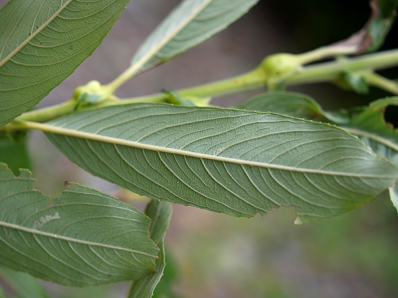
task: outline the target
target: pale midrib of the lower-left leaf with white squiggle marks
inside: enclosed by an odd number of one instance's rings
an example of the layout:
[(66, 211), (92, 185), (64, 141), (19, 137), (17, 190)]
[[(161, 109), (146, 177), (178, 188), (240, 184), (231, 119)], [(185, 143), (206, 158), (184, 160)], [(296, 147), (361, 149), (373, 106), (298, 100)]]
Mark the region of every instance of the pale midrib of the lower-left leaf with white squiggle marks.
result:
[(152, 255), (152, 254), (149, 254), (149, 253), (145, 253), (145, 252), (141, 252), (141, 251), (137, 251), (137, 250), (133, 250), (133, 249), (128, 249), (128, 248), (125, 248), (125, 247), (119, 247), (119, 246), (114, 246), (114, 245), (109, 245), (109, 244), (103, 244), (103, 243), (98, 243), (98, 242), (85, 241), (85, 240), (81, 240), (81, 239), (66, 237), (66, 236), (57, 235), (57, 234), (54, 234), (54, 233), (43, 232), (43, 231), (40, 231), (40, 230), (37, 230), (37, 229), (21, 226), (21, 225), (18, 225), (18, 224), (10, 224), (10, 223), (6, 223), (6, 222), (0, 221), (0, 226), (8, 227), (8, 228), (16, 229), (16, 230), (20, 230), (20, 231), (27, 232), (27, 233), (30, 233), (30, 234), (35, 234), (35, 235), (40, 235), (40, 236), (47, 236), (47, 237), (51, 237), (51, 238), (54, 238), (54, 239), (68, 241), (68, 242), (75, 242), (75, 243), (89, 245), (89, 246), (100, 246), (102, 248), (109, 248), (109, 249), (115, 249), (115, 250), (124, 250), (124, 251), (132, 252), (132, 253), (146, 255), (146, 256), (149, 256), (149, 257), (155, 257), (155, 258), (157, 257), (156, 255)]

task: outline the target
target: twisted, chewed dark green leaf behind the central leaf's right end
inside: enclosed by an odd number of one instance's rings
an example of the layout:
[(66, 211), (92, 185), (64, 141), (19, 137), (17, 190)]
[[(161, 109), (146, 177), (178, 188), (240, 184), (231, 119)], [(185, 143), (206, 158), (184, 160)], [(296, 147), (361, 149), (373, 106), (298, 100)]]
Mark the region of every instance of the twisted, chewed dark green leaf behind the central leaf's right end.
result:
[[(378, 99), (369, 106), (352, 108), (350, 111), (327, 113), (308, 96), (285, 91), (259, 94), (238, 105), (239, 108), (249, 110), (271, 111), (341, 125), (374, 152), (398, 165), (397, 129), (385, 119), (386, 109), (390, 106), (398, 106), (397, 96)], [(390, 187), (390, 197), (398, 208), (396, 185), (395, 182)]]

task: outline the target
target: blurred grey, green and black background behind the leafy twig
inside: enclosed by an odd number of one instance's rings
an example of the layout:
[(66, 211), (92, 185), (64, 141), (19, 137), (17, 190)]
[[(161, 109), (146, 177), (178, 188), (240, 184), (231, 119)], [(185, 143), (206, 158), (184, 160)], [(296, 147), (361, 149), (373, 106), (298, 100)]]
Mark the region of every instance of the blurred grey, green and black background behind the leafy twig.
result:
[[(2, 6), (6, 1), (0, 0)], [(38, 107), (69, 99), (79, 85), (107, 83), (125, 70), (132, 55), (178, 0), (132, 0), (103, 44)], [(255, 68), (267, 55), (301, 53), (345, 39), (367, 21), (367, 1), (261, 0), (225, 31), (159, 68), (122, 86), (132, 97), (226, 78)], [(397, 48), (398, 26), (383, 49)], [(383, 74), (396, 78), (397, 69)], [(314, 97), (325, 109), (366, 105), (387, 96), (367, 96), (329, 84), (290, 87)], [(264, 90), (223, 96), (228, 107)], [(28, 140), (36, 188), (55, 196), (66, 180), (110, 193), (143, 210), (145, 199), (93, 177), (63, 157), (41, 133)], [(158, 297), (180, 298), (384, 298), (398, 297), (398, 215), (382, 194), (371, 204), (325, 223), (295, 226), (292, 208), (266, 218), (232, 218), (174, 205), (166, 238), (172, 280)], [(88, 289), (45, 283), (51, 297), (125, 297), (128, 283)]]

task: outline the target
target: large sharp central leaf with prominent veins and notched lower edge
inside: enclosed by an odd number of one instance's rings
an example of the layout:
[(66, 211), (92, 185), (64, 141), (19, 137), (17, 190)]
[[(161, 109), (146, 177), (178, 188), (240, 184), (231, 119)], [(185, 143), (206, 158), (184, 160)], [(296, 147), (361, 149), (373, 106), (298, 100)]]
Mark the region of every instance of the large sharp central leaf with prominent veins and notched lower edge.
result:
[(233, 216), (296, 206), (322, 221), (372, 200), (398, 168), (344, 130), (272, 113), (129, 104), (29, 127), (140, 195)]

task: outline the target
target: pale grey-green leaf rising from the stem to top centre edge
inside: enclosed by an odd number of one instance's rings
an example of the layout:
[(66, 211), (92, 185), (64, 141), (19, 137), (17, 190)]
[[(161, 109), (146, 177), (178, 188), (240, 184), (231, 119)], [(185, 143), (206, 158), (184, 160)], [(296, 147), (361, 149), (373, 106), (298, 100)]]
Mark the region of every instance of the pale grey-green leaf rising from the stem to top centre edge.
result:
[(131, 64), (143, 71), (199, 45), (259, 0), (184, 0), (138, 49)]

